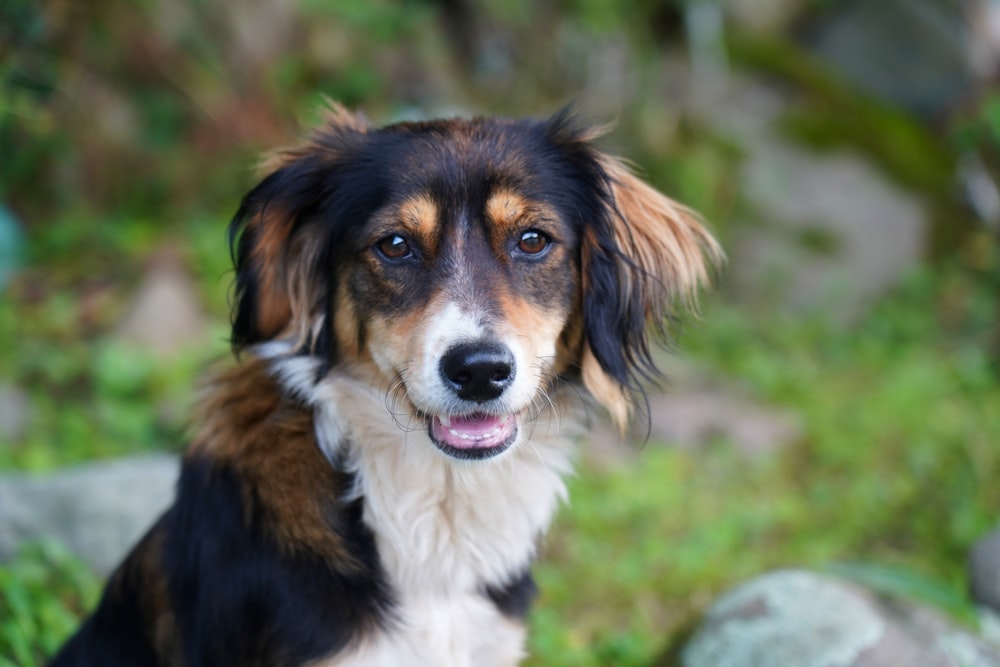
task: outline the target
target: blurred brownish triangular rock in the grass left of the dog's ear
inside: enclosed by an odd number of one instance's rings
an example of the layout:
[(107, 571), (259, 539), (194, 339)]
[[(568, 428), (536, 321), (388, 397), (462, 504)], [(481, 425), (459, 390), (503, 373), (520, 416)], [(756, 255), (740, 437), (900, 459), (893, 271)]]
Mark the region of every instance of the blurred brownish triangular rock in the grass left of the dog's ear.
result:
[(150, 260), (115, 336), (165, 357), (205, 342), (198, 289), (175, 250), (163, 249)]

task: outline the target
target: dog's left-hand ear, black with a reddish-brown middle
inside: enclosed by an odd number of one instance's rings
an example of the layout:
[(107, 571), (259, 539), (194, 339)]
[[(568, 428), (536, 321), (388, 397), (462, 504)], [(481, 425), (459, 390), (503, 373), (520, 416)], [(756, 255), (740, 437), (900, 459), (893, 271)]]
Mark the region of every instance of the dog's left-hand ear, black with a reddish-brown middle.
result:
[(243, 198), (229, 226), (234, 349), (286, 335), (306, 342), (311, 315), (326, 296), (314, 279), (328, 246), (321, 219), (339, 167), (366, 132), (363, 119), (331, 104), (301, 146), (263, 162), (268, 175)]

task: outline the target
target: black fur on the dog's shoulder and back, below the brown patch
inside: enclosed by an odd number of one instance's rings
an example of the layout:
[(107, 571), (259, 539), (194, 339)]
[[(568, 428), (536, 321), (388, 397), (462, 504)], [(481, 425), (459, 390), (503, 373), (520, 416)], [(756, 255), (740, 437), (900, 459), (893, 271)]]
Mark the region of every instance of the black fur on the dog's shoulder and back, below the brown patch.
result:
[(389, 622), (392, 602), (360, 500), (330, 517), (330, 529), (353, 556), (344, 563), (287, 553), (269, 537), (242, 485), (230, 469), (187, 461), (176, 504), (116, 572), (52, 667), (175, 664), (157, 657), (149, 636), (155, 624), (144, 596), (151, 582), (139, 559), (154, 545), (162, 545), (156, 576), (167, 584), (180, 634), (170, 648), (185, 667), (305, 664)]

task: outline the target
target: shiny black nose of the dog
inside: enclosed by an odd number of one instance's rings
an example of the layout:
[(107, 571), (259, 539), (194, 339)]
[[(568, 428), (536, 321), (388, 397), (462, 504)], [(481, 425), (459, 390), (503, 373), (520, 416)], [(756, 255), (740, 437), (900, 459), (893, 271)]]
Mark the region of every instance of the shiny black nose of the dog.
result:
[(442, 357), (441, 376), (459, 398), (483, 403), (514, 381), (514, 355), (506, 345), (462, 343)]

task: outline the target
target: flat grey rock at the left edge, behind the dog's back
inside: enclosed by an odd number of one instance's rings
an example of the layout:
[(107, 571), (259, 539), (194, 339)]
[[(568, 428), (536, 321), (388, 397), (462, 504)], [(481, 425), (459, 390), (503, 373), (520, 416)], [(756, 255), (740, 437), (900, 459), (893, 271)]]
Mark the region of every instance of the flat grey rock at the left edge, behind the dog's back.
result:
[(55, 539), (108, 574), (170, 504), (178, 466), (164, 454), (0, 476), (0, 560)]

